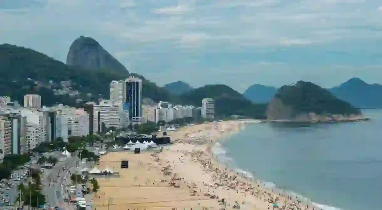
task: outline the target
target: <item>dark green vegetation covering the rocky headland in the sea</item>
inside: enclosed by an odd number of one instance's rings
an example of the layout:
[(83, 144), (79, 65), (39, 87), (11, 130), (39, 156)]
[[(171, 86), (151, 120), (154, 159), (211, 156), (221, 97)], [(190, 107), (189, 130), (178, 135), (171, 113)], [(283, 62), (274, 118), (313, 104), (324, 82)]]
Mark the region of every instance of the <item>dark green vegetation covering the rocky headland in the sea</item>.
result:
[(292, 86), (282, 86), (275, 95), (285, 105), (293, 108), (295, 114), (359, 114), (350, 103), (337, 99), (328, 90), (311, 82), (298, 81)]

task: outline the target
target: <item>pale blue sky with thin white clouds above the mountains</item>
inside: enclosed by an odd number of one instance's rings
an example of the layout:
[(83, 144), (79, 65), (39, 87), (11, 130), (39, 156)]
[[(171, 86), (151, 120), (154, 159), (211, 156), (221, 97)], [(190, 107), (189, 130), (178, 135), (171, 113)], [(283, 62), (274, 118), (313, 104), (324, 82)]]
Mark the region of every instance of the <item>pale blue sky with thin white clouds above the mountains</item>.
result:
[(380, 0), (1, 0), (0, 42), (66, 62), (89, 36), (159, 86), (382, 84)]

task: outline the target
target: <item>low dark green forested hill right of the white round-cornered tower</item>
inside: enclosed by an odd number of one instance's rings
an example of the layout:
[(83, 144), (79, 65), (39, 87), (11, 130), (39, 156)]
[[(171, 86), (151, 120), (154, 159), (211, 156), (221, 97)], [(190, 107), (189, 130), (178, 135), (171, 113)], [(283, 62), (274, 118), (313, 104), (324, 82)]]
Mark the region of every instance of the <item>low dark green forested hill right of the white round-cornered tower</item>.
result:
[(200, 107), (204, 98), (215, 100), (215, 115), (244, 115), (253, 118), (265, 118), (265, 103), (254, 104), (242, 94), (226, 85), (206, 85), (179, 96), (183, 104)]

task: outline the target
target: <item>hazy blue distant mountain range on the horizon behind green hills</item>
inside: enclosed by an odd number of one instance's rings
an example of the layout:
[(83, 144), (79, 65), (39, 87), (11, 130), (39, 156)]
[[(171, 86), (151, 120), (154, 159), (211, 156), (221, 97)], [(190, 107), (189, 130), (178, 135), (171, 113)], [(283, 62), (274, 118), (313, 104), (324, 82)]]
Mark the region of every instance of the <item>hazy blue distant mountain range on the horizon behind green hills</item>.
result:
[[(175, 85), (174, 82), (170, 84), (172, 84), (172, 89), (181, 89), (183, 86), (189, 86), (181, 81), (176, 82), (176, 84), (181, 84), (181, 86)], [(344, 100), (354, 107), (382, 108), (382, 85), (380, 84), (367, 84), (362, 79), (351, 78), (327, 90), (338, 99)], [(243, 96), (253, 103), (267, 103), (274, 97), (277, 91), (278, 87), (254, 84), (244, 91)]]

